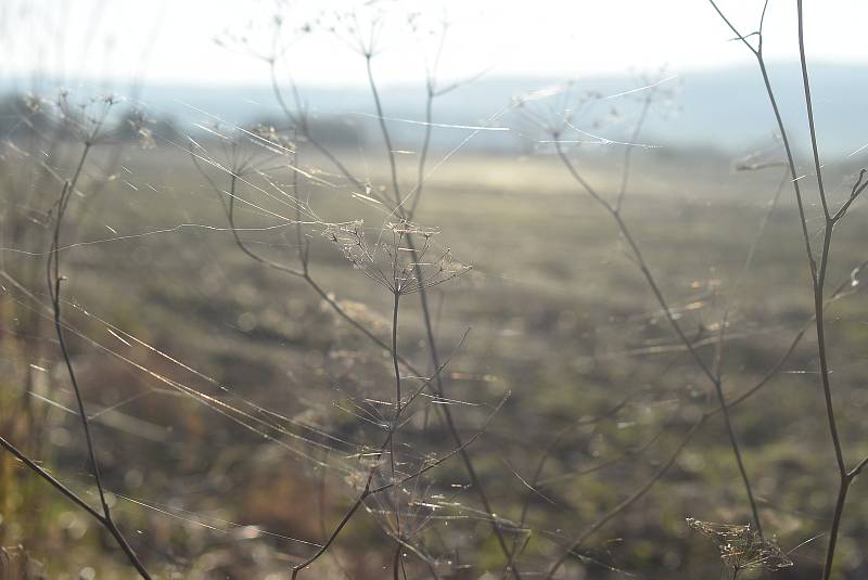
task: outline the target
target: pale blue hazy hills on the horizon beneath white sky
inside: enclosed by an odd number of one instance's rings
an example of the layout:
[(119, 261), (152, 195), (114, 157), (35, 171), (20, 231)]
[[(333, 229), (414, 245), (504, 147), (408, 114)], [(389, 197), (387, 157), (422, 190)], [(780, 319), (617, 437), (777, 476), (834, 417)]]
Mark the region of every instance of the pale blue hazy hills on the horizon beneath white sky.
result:
[[(868, 69), (859, 66), (817, 64), (812, 67), (815, 115), (821, 144), (829, 155), (847, 155), (868, 141), (859, 125), (853, 123), (866, 112), (864, 94), (868, 89)], [(799, 67), (795, 63), (773, 64), (773, 82), (779, 90), (780, 106), (793, 124), (791, 130), (803, 141), (803, 104)], [(563, 79), (546, 78), (482, 78), (454, 91), (436, 102), (436, 120), (446, 124), (484, 124), (508, 106), (515, 95), (563, 85)], [(75, 82), (68, 83), (75, 86)], [(7, 80), (0, 87), (27, 87), (21, 80)], [(44, 87), (51, 87), (44, 82)], [(577, 79), (577, 91), (599, 91), (614, 95), (643, 86), (639, 77), (611, 76)], [(769, 142), (774, 132), (768, 114), (762, 79), (753, 68), (690, 72), (671, 80), (665, 87), (673, 93), (669, 106), (660, 107), (649, 118), (647, 143), (667, 146), (707, 147), (729, 153), (743, 152)], [(21, 89), (20, 89), (21, 90)], [(130, 89), (117, 88), (120, 93)], [(372, 103), (367, 88), (303, 88), (302, 93), (311, 111), (332, 116), (343, 114), (360, 127), (372, 123)], [(140, 99), (153, 115), (166, 115), (182, 121), (201, 121), (210, 115), (230, 123), (248, 123), (279, 117), (270, 86), (192, 86), (149, 85), (141, 89)], [(383, 91), (387, 115), (406, 119), (423, 118), (424, 93), (419, 87), (387, 87)], [(589, 111), (583, 128), (593, 132), (592, 123), (605, 117), (610, 123), (595, 134), (623, 139), (628, 124), (617, 118), (635, 116), (639, 102), (636, 94), (605, 99)], [(612, 117), (614, 108), (618, 117)], [(508, 117), (505, 117), (508, 119)], [(393, 124), (405, 138), (414, 138), (418, 126)], [(465, 131), (435, 131), (435, 146), (448, 147), (465, 137)], [(526, 146), (527, 141), (502, 132), (481, 134), (473, 144), (478, 149), (513, 150)]]

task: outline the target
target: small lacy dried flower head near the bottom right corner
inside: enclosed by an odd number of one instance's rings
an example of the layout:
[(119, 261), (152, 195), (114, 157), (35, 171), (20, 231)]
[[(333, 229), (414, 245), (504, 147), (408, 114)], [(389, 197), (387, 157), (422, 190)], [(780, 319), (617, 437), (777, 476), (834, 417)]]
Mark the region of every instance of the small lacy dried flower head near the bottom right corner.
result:
[(750, 524), (716, 524), (689, 517), (687, 525), (717, 544), (720, 559), (736, 572), (757, 568), (774, 571), (793, 565), (774, 541), (760, 536)]

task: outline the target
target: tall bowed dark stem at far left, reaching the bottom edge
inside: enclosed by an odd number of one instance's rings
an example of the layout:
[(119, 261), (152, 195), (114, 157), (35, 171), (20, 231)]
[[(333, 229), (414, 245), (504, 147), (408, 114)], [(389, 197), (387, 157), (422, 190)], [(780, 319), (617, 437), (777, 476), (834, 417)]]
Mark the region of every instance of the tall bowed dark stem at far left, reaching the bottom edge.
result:
[(93, 478), (97, 484), (97, 490), (100, 495), (100, 504), (102, 506), (102, 517), (100, 518), (100, 521), (106, 528), (106, 530), (108, 530), (108, 532), (115, 538), (115, 541), (118, 543), (120, 549), (127, 555), (127, 558), (130, 560), (133, 567), (138, 570), (139, 575), (141, 575), (142, 578), (150, 580), (151, 577), (149, 576), (141, 560), (136, 555), (132, 547), (129, 545), (126, 538), (124, 538), (124, 534), (120, 532), (114, 519), (112, 518), (112, 513), (111, 510), (108, 508), (108, 503), (105, 499), (105, 487), (102, 481), (100, 465), (99, 462), (97, 461), (97, 453), (93, 446), (93, 438), (90, 433), (90, 421), (88, 420), (88, 414), (85, 410), (85, 402), (81, 397), (81, 388), (78, 384), (78, 379), (75, 374), (75, 369), (73, 366), (72, 359), (69, 358), (69, 350), (66, 345), (66, 338), (63, 332), (61, 283), (64, 279), (63, 276), (61, 276), (60, 273), (61, 229), (63, 227), (63, 218), (66, 212), (66, 208), (68, 207), (69, 198), (75, 192), (76, 185), (81, 176), (81, 171), (85, 167), (85, 162), (87, 160), (91, 146), (92, 146), (91, 141), (85, 142), (85, 146), (81, 152), (81, 156), (79, 157), (75, 172), (73, 173), (72, 179), (64, 182), (63, 188), (61, 190), (61, 196), (56, 205), (56, 218), (54, 223), (54, 232), (51, 243), (51, 249), (49, 252), (49, 259), (47, 262), (48, 289), (49, 289), (49, 295), (51, 297), (51, 306), (54, 318), (54, 330), (58, 334), (58, 341), (60, 343), (63, 361), (64, 364), (66, 365), (66, 370), (69, 375), (69, 382), (73, 385), (73, 392), (75, 394), (76, 404), (78, 407), (78, 415), (81, 420), (81, 427), (85, 431), (85, 441), (87, 443), (87, 449), (88, 449), (88, 459), (90, 460), (91, 468), (93, 471)]

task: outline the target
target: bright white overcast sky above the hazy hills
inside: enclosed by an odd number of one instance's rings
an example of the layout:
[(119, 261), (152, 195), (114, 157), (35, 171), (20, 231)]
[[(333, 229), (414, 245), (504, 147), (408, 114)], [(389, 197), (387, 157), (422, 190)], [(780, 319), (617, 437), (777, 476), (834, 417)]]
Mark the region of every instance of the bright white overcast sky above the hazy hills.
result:
[[(356, 0), (298, 0), (283, 10), (288, 25), (307, 22), (323, 7), (337, 11)], [(576, 77), (666, 66), (679, 73), (748, 63), (750, 54), (706, 0), (380, 0), (387, 14), (375, 70), (382, 82), (422, 78), (432, 42), (408, 30), (404, 14), (423, 24), (450, 22), (441, 66), (445, 79), (488, 70), (490, 76)], [(722, 0), (743, 33), (756, 28), (762, 0)], [(35, 72), (89, 80), (142, 77), (148, 82), (261, 83), (267, 66), (243, 51), (214, 42), (227, 29), (267, 25), (273, 0), (0, 0), (0, 75)], [(806, 0), (809, 59), (868, 63), (865, 0)], [(258, 31), (257, 31), (258, 30)], [(770, 0), (766, 16), (769, 60), (796, 55), (795, 1)], [(253, 43), (265, 51), (270, 34), (259, 26)], [(329, 34), (307, 35), (286, 52), (304, 85), (356, 85), (363, 64)]]

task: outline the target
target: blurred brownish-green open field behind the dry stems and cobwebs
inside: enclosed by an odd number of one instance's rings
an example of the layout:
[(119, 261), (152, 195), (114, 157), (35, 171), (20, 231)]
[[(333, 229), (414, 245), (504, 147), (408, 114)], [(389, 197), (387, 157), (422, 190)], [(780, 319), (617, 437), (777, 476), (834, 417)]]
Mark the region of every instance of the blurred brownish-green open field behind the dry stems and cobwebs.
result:
[[(374, 186), (387, 183), (380, 158), (373, 152), (371, 158), (353, 159)], [(89, 183), (103, 178), (100, 159), (105, 160), (94, 157)], [(432, 157), (430, 168), (437, 160)], [(414, 162), (412, 155), (401, 158), (407, 175)], [(613, 195), (621, 163), (617, 150), (588, 150), (577, 166)], [(352, 198), (353, 189), (323, 159), (303, 154), (301, 165), (321, 170), (317, 177), (333, 185), (303, 179), (295, 192), (309, 198), (323, 221), (365, 219), (376, 233), (384, 219), (379, 208)], [(848, 193), (854, 170), (830, 168), (835, 203)], [(62, 259), (69, 279), (65, 314), (85, 337), (72, 340), (74, 362), (89, 408), (99, 414), (93, 425), (100, 460), (120, 521), (161, 578), (283, 578), (279, 575), (312, 550), (292, 539), (321, 542), (354, 499), (345, 474), (328, 467), (352, 463), (346, 446), (294, 422), (354, 444), (376, 440), (366, 417), (376, 408), (371, 400), (391, 400), (387, 353), (336, 317), (304, 281), (245, 257), (226, 230), (217, 194), (183, 151), (127, 149), (113, 175), (97, 194), (87, 183), (80, 188), (85, 194), (74, 202), (65, 235), (72, 247)], [(209, 175), (228, 186), (225, 175)], [(273, 176), (291, 188), (290, 171)], [(727, 312), (723, 373), (731, 397), (762, 379), (813, 311), (789, 188), (760, 231), (781, 177), (780, 168), (737, 171), (732, 159), (711, 153), (635, 153), (625, 220), (706, 360)], [(255, 177), (252, 182), (260, 183)], [(412, 185), (403, 183), (405, 191)], [(254, 188), (245, 188), (243, 196), (271, 211), (290, 211)], [(10, 198), (7, 216), (25, 215), (27, 208)], [(259, 211), (238, 211), (239, 227), (251, 229), (242, 232), (251, 247), (290, 266), (297, 262), (292, 228), (273, 228), (278, 221)], [(818, 230), (817, 208), (809, 211)], [(847, 281), (865, 259), (866, 215), (856, 204), (837, 231), (830, 287)], [(418, 221), (438, 228), (438, 247), (450, 247), (473, 266), (431, 293), (442, 353), (455, 350), (444, 371), (446, 390), (460, 401), (452, 408), (467, 437), (511, 391), (470, 451), (498, 517), (519, 521), (528, 502), (526, 526), (533, 531), (523, 569), (529, 576), (545, 569), (558, 544), (629, 495), (668, 457), (706, 407), (709, 385), (625, 256), (614, 223), (557, 157), (446, 160), (425, 183)], [(38, 254), (48, 247), (48, 230), (38, 233), (44, 225), (27, 228), (37, 232), (28, 245), (4, 243), (2, 254), (4, 271), (22, 283), (15, 287), (9, 278), (2, 283), (0, 392), (2, 404), (16, 409), (14, 416), (4, 413), (5, 425), (14, 427), (4, 433), (23, 433), (21, 424), (30, 423), (28, 428), (42, 434), (42, 446), (31, 450), (36, 456), (95, 499), (80, 425), (63, 410), (72, 394), (56, 338), (44, 321), (25, 324), (44, 314), (44, 256)], [(311, 274), (386, 339), (390, 296), (354, 270), (322, 230), (319, 224), (305, 230)], [(854, 461), (868, 453), (863, 437), (868, 306), (860, 288), (854, 278), (852, 294), (828, 315), (839, 421)], [(403, 298), (399, 349), (431, 372), (416, 296)], [(733, 411), (767, 533), (784, 551), (821, 533), (834, 501), (815, 353), (808, 332), (782, 371)], [(218, 404), (179, 394), (163, 376), (240, 405), (252, 417), (286, 425), (307, 441), (288, 434), (276, 435), (280, 444), (266, 439), (229, 421)], [(528, 489), (541, 450), (559, 431), (576, 420), (604, 415), (625, 398), (611, 416), (567, 431), (553, 448), (542, 484)], [(451, 440), (430, 405), (424, 409), (401, 444), (408, 454), (448, 453)], [(92, 521), (8, 456), (0, 465), (0, 544), (21, 544), (46, 578), (93, 578), (80, 571), (86, 568), (95, 578), (132, 577)], [(460, 461), (451, 459), (431, 475), (430, 493), (438, 492), (443, 503), (433, 510), (437, 525), (421, 538), (437, 556), (437, 573), (499, 578), (505, 563), (464, 487)], [(845, 518), (835, 560), (840, 578), (868, 572), (868, 503), (861, 488), (854, 488)], [(691, 532), (685, 518), (746, 523), (743, 494), (723, 424), (713, 418), (650, 493), (597, 532), (559, 578), (717, 578), (716, 547)], [(342, 569), (352, 578), (391, 577), (392, 550), (384, 538), (375, 513), (361, 515), (339, 540), (335, 557), (317, 563), (308, 577), (342, 578)], [(816, 577), (824, 545), (820, 538), (799, 547), (790, 554), (795, 565), (775, 578)]]

